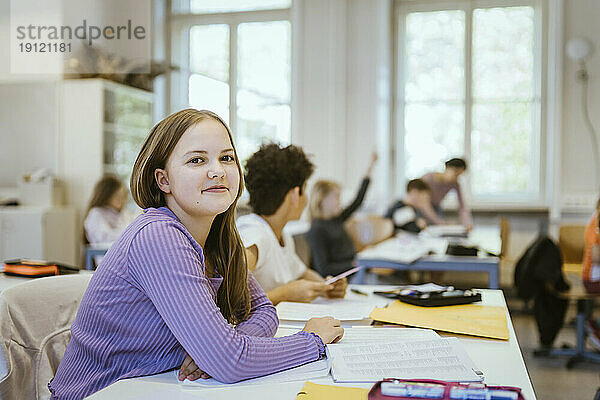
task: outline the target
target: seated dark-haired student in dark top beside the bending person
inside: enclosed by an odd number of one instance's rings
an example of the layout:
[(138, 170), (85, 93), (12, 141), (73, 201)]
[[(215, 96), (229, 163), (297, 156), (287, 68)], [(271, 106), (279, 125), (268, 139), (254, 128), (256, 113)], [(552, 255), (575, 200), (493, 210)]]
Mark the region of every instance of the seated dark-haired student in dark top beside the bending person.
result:
[(404, 199), (392, 204), (385, 217), (394, 222), (396, 231), (419, 233), (427, 227), (426, 209), (431, 209), (431, 189), (423, 180), (413, 179), (406, 185)]

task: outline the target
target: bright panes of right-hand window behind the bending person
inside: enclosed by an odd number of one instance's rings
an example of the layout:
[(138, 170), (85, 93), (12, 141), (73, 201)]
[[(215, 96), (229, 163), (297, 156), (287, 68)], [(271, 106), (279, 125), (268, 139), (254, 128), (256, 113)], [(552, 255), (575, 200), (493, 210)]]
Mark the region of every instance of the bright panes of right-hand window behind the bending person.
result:
[(464, 156), (474, 203), (539, 201), (538, 7), (452, 4), (397, 14), (399, 173), (412, 179)]

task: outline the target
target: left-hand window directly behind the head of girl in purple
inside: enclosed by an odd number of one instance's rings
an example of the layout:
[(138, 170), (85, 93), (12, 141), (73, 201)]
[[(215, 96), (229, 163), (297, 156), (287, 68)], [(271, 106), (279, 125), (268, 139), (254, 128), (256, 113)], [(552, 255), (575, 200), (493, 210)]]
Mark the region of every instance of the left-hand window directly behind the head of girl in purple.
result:
[[(209, 109), (230, 125), (243, 161), (291, 140), (291, 1), (173, 4), (172, 109)], [(267, 9), (267, 8), (271, 9)]]

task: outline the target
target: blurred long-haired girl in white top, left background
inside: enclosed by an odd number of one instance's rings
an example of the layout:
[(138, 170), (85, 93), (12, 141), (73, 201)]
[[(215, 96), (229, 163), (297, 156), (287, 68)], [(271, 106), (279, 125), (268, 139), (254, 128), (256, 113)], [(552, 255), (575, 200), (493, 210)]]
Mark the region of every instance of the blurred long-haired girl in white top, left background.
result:
[(117, 240), (135, 218), (125, 209), (127, 198), (127, 188), (114, 175), (106, 175), (96, 183), (83, 222), (84, 242), (101, 244)]

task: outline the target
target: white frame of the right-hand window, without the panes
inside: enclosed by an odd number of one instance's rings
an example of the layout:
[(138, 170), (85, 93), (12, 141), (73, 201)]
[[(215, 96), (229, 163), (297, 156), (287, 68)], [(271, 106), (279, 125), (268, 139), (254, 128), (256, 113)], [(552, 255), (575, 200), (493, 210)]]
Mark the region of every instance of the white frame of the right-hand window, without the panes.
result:
[[(543, 21), (547, 21), (547, 2), (546, 0), (452, 0), (452, 1), (415, 1), (415, 0), (396, 0), (394, 3), (394, 71), (395, 96), (394, 96), (394, 129), (395, 136), (395, 165), (394, 184), (395, 192), (403, 193), (406, 184), (405, 179), (405, 151), (404, 151), (404, 106), (405, 106), (405, 70), (403, 68), (405, 59), (405, 16), (411, 12), (443, 11), (443, 10), (462, 10), (465, 13), (465, 125), (464, 125), (464, 157), (467, 161), (471, 159), (471, 124), (472, 107), (474, 99), (472, 98), (472, 22), (473, 10), (477, 8), (491, 7), (515, 7), (530, 6), (535, 10), (534, 15), (534, 98), (539, 100), (534, 102), (532, 117), (532, 150), (534, 153), (537, 170), (534, 170), (535, 179), (539, 185), (539, 190), (535, 196), (490, 196), (487, 198), (473, 199), (470, 187), (470, 181), (464, 180), (462, 185), (463, 196), (467, 198), (468, 203), (473, 209), (539, 209), (548, 205), (548, 182), (547, 182), (547, 138), (546, 138), (546, 93), (547, 93), (547, 70), (548, 66), (542, 60), (548, 60), (547, 36), (548, 27)], [(440, 169), (443, 165), (440, 165)]]

